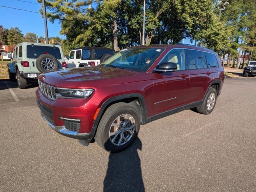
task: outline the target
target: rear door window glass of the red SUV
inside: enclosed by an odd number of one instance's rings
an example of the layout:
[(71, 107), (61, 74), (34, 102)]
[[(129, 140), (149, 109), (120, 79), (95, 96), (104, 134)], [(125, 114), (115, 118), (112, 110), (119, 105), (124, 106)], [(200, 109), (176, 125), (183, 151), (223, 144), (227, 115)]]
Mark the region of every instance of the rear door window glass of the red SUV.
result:
[(196, 50), (186, 50), (187, 52), (187, 62), (189, 69), (202, 69), (203, 58), (202, 53)]

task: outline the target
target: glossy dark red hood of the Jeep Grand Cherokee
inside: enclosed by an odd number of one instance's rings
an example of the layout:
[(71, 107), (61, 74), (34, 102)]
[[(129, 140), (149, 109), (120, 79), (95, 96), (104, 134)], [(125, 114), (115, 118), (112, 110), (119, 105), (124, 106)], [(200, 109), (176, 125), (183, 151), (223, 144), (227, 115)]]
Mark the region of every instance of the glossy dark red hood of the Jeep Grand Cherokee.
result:
[(80, 84), (91, 81), (120, 76), (138, 75), (140, 72), (132, 72), (120, 68), (104, 66), (79, 67), (64, 70), (56, 70), (41, 74), (39, 80), (56, 87), (76, 88)]

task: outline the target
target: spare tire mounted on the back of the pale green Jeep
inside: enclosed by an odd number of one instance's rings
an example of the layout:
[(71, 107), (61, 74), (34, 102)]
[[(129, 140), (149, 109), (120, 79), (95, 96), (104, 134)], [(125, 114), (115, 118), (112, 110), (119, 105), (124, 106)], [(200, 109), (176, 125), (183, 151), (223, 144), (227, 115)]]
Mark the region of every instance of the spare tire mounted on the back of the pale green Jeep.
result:
[(50, 54), (42, 54), (36, 59), (36, 68), (42, 73), (57, 70), (58, 66), (58, 60)]

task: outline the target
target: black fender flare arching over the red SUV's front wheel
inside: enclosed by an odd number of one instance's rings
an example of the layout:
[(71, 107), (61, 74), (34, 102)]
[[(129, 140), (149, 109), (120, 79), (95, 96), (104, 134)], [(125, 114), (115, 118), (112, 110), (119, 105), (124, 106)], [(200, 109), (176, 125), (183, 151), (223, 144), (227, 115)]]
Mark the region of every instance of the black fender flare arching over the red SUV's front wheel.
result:
[(141, 112), (142, 112), (142, 122), (146, 122), (147, 121), (147, 108), (146, 108), (146, 101), (145, 101), (144, 97), (142, 96), (142, 94), (131, 93), (131, 94), (118, 95), (118, 96), (109, 98), (102, 104), (102, 106), (100, 107), (100, 111), (98, 112), (98, 115), (97, 115), (97, 117), (94, 121), (94, 124), (92, 126), (92, 131), (90, 134), (93, 134), (93, 137), (94, 137), (97, 127), (98, 127), (98, 124), (100, 123), (100, 119), (102, 118), (102, 115), (104, 114), (105, 110), (107, 109), (107, 106), (110, 103), (118, 101), (118, 100), (122, 100), (122, 99), (134, 98), (134, 97), (139, 98)]

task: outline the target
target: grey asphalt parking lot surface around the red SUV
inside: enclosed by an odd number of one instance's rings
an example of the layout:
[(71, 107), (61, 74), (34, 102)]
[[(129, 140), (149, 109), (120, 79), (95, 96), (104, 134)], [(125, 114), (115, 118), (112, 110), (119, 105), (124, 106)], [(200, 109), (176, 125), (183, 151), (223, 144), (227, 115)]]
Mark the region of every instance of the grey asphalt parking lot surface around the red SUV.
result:
[(226, 78), (212, 114), (186, 110), (141, 126), (118, 154), (52, 130), (36, 88), (0, 81), (0, 191), (256, 189), (256, 77)]

